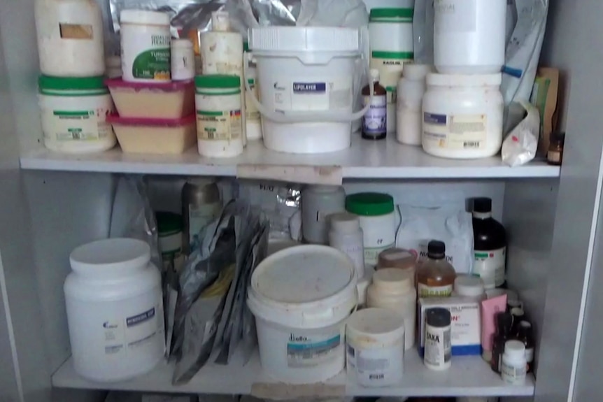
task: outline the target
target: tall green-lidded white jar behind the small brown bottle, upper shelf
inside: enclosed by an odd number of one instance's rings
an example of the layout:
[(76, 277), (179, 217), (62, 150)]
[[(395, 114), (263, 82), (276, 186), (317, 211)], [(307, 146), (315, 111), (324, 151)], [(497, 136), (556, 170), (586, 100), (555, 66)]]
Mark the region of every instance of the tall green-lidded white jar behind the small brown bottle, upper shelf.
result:
[(388, 133), (396, 130), (397, 85), (414, 58), (413, 8), (373, 8), (369, 16), (371, 69), (388, 91)]

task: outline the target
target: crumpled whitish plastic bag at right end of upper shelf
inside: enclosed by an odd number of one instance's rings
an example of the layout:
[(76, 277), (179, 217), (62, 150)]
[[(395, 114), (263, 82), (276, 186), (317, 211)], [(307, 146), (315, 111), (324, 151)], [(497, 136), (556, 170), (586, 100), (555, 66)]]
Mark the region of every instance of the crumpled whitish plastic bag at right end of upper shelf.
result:
[(538, 149), (538, 134), (540, 131), (540, 114), (538, 109), (527, 101), (511, 103), (509, 106), (509, 122), (513, 116), (523, 116), (515, 128), (502, 142), (502, 161), (513, 167), (527, 164), (534, 159)]

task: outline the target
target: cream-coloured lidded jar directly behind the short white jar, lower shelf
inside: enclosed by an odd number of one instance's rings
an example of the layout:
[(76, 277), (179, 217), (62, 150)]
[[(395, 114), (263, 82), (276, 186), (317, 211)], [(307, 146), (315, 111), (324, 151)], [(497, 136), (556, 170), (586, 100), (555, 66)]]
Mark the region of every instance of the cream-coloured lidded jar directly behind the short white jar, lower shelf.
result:
[(375, 271), (373, 283), (367, 290), (367, 306), (389, 308), (404, 319), (406, 339), (404, 349), (415, 344), (417, 292), (413, 271), (383, 268)]

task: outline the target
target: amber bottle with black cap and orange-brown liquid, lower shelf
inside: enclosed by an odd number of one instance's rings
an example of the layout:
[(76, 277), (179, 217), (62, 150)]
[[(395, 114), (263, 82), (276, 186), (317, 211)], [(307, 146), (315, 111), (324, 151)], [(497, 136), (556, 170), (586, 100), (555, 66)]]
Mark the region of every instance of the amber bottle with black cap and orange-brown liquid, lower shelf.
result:
[(451, 296), (455, 279), (456, 271), (446, 261), (446, 245), (441, 241), (430, 241), (427, 259), (417, 270), (418, 297)]

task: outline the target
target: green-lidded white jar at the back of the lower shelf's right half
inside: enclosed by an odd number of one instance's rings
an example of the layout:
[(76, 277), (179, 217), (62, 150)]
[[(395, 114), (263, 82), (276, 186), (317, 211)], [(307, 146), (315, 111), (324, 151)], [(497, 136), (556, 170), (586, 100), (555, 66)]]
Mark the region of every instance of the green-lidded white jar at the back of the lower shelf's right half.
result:
[(383, 193), (351, 194), (346, 197), (346, 210), (360, 219), (364, 264), (376, 266), (379, 253), (394, 247), (396, 242), (394, 198)]

